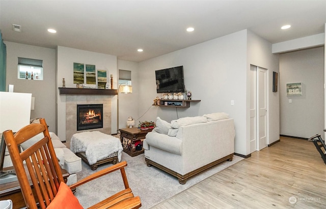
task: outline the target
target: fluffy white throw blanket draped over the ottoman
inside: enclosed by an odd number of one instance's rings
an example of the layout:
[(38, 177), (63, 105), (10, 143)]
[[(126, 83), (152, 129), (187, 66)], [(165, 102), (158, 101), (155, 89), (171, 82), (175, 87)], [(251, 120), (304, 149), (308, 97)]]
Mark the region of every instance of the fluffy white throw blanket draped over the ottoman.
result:
[(73, 153), (85, 152), (90, 165), (118, 153), (121, 161), (122, 145), (120, 139), (99, 131), (88, 131), (72, 135), (70, 150)]

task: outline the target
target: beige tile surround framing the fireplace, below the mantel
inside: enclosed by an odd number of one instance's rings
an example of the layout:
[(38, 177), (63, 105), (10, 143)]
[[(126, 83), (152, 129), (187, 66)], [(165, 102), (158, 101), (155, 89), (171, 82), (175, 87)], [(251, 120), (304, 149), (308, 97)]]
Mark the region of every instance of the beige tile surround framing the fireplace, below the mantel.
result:
[[(111, 135), (112, 95), (66, 95), (66, 142), (73, 134), (84, 131), (100, 131)], [(77, 104), (103, 104), (103, 128), (77, 131)]]

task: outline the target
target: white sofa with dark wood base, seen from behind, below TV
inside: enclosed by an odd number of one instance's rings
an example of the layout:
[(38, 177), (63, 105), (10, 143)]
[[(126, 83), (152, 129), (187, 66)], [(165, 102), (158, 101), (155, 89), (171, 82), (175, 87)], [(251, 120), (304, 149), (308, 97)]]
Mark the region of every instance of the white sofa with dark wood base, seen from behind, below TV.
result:
[(234, 154), (233, 119), (226, 113), (185, 117), (171, 124), (157, 117), (156, 128), (146, 135), (143, 147), (147, 166), (156, 166), (180, 184), (187, 178)]

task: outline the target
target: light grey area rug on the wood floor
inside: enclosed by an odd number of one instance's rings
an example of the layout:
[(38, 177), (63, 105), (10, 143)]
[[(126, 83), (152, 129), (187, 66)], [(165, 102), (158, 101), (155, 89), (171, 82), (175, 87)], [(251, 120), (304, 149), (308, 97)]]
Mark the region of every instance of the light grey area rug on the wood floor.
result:
[[(122, 161), (127, 161), (125, 168), (129, 186), (135, 196), (140, 196), (142, 208), (151, 208), (156, 204), (192, 187), (205, 180), (209, 176), (241, 161), (243, 158), (234, 156), (231, 162), (225, 161), (204, 172), (201, 172), (187, 180), (181, 185), (176, 177), (157, 169), (154, 166), (147, 167), (144, 154), (130, 157), (122, 152)], [(77, 180), (80, 180), (98, 170), (111, 166), (112, 164), (99, 165), (97, 170), (91, 170), (90, 166), (82, 161), (83, 169), (77, 173)], [(75, 196), (80, 204), (87, 208), (124, 189), (121, 173), (118, 171), (107, 174), (93, 180), (83, 186), (79, 186)]]

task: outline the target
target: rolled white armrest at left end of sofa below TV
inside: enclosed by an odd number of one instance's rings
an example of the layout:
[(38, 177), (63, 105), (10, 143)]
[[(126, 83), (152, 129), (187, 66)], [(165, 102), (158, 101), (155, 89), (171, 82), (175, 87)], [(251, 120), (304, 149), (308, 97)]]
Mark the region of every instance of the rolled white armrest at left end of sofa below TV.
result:
[(177, 137), (149, 132), (144, 141), (150, 146), (154, 146), (169, 153), (176, 155), (181, 155), (182, 153), (182, 140)]

